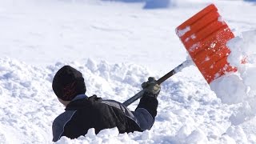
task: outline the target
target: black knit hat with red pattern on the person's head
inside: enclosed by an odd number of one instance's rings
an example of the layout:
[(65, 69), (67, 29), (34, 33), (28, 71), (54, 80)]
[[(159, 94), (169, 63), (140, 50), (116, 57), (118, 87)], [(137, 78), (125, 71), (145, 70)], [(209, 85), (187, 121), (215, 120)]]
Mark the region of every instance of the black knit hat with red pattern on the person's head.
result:
[(78, 94), (85, 94), (86, 84), (82, 73), (71, 66), (63, 66), (54, 76), (53, 90), (63, 101), (70, 101)]

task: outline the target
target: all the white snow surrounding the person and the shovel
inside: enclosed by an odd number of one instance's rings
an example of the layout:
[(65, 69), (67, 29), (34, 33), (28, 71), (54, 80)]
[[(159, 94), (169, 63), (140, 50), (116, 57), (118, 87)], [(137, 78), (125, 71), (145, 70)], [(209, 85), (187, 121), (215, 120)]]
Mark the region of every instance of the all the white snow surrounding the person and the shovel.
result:
[(186, 60), (175, 28), (210, 3), (236, 35), (227, 45), (238, 72), (209, 86), (187, 66), (162, 83), (151, 130), (90, 129), (57, 143), (256, 143), (255, 4), (170, 2), (145, 10), (144, 2), (0, 0), (0, 143), (52, 143), (51, 125), (64, 106), (51, 82), (64, 65), (82, 72), (87, 95), (119, 102), (134, 96), (149, 76), (160, 78)]

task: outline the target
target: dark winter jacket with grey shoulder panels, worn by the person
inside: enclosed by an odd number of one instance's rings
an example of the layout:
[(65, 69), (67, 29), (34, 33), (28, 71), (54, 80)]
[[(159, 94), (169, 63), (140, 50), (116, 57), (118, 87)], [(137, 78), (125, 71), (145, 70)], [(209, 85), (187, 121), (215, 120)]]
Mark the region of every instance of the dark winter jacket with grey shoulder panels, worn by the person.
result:
[(135, 111), (130, 111), (122, 103), (102, 100), (96, 95), (70, 102), (66, 111), (55, 118), (53, 141), (62, 136), (78, 138), (90, 128), (98, 134), (100, 130), (117, 127), (120, 133), (150, 130), (157, 114), (158, 100), (144, 95)]

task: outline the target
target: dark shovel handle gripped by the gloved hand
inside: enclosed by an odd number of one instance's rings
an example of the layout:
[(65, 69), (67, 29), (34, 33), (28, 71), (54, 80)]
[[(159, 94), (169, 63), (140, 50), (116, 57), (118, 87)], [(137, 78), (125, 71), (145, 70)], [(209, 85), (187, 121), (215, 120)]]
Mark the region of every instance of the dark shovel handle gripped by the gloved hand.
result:
[[(174, 70), (171, 70), (169, 73), (162, 76), (162, 78), (159, 78), (158, 81), (157, 81), (158, 85), (160, 85), (162, 82), (165, 82), (166, 79), (168, 79), (171, 76), (173, 76), (174, 74), (178, 73), (178, 71), (182, 70), (186, 66), (190, 66), (191, 63), (192, 63), (191, 60), (186, 60), (185, 62), (182, 62), (182, 64), (175, 67)], [(125, 105), (125, 106), (129, 106), (131, 103), (135, 102), (138, 98), (142, 98), (142, 95), (144, 94), (144, 91), (145, 90), (141, 90), (140, 92), (138, 92), (138, 94), (135, 94), (132, 98), (129, 98), (128, 100), (126, 100), (126, 102), (123, 102), (122, 104)]]

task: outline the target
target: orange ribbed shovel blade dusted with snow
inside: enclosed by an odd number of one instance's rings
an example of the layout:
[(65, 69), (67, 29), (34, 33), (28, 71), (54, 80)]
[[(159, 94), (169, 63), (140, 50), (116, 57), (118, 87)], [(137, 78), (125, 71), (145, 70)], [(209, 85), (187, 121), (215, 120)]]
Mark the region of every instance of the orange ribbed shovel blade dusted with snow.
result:
[(230, 50), (226, 42), (234, 38), (234, 34), (214, 4), (183, 22), (176, 34), (208, 83), (237, 70), (227, 62)]

